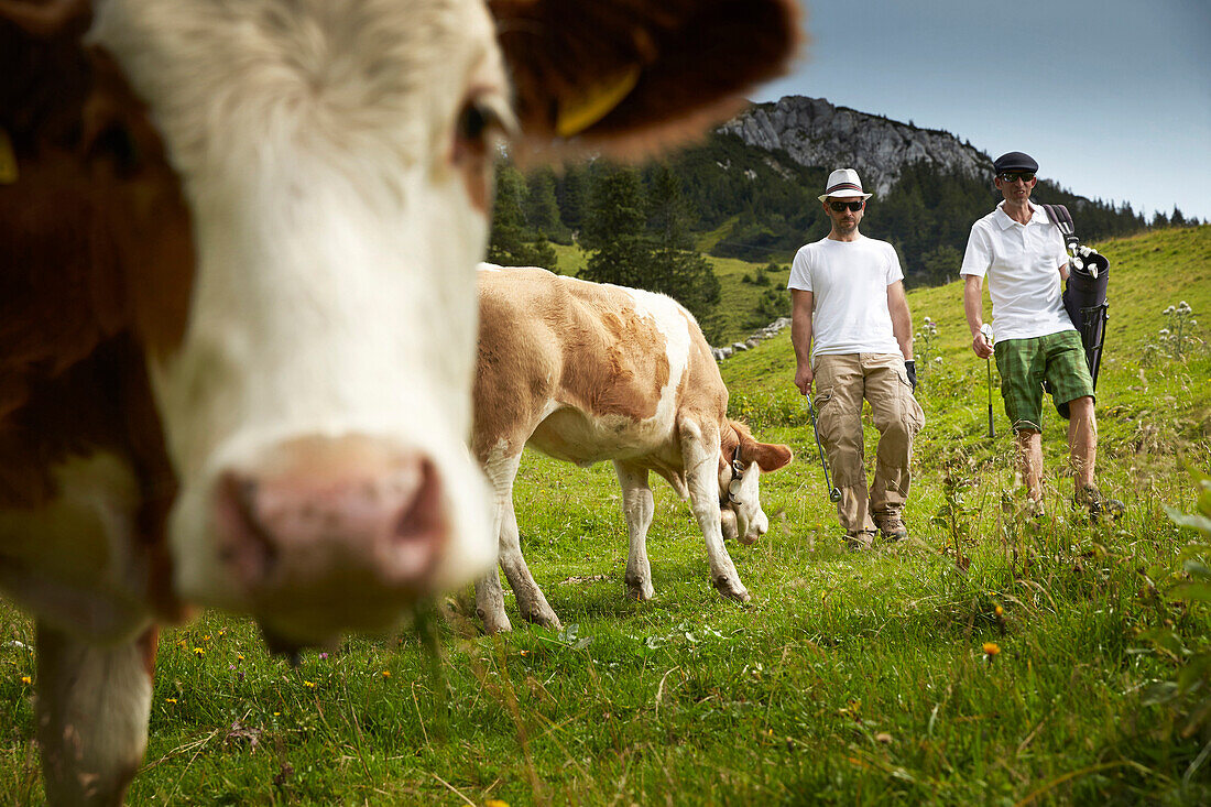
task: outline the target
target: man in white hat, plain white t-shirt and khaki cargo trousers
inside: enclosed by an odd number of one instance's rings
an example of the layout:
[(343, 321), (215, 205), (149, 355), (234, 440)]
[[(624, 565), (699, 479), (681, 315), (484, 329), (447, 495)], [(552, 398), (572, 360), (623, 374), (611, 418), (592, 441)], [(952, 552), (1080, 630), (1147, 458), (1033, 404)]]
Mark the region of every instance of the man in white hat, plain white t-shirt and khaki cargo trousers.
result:
[[(908, 534), (901, 513), (912, 479), (912, 439), (925, 423), (912, 394), (912, 315), (900, 257), (886, 241), (857, 231), (869, 198), (853, 168), (828, 176), (820, 202), (832, 229), (799, 248), (787, 282), (794, 385), (808, 395), (815, 379), (816, 427), (840, 488), (837, 515), (851, 549), (871, 548), (876, 528), (888, 540)], [(879, 430), (869, 488), (863, 397)]]

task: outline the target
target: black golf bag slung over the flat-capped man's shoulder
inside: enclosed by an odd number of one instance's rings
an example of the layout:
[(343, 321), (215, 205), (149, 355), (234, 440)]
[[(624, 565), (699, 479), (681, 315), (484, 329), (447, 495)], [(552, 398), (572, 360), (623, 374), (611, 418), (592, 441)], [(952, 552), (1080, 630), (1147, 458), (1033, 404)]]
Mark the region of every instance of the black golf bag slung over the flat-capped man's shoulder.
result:
[[(1097, 389), (1097, 371), (1102, 366), (1102, 344), (1106, 340), (1106, 321), (1109, 319), (1106, 288), (1110, 277), (1110, 262), (1097, 250), (1080, 245), (1073, 228), (1072, 216), (1063, 205), (1041, 205), (1051, 223), (1063, 234), (1068, 248), (1068, 282), (1063, 290), (1063, 307), (1068, 319), (1080, 333), (1085, 348), (1085, 364)], [(1051, 391), (1050, 389), (1048, 390)], [(1068, 419), (1068, 405), (1056, 404), (1060, 417)]]

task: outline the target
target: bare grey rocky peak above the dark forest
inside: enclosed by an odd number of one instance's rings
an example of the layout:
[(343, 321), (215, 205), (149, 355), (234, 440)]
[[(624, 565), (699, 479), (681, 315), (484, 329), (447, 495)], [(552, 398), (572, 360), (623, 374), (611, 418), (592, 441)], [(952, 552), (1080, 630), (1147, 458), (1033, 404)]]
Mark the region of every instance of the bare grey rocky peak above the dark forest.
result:
[(786, 96), (754, 104), (719, 131), (765, 150), (784, 149), (804, 166), (857, 168), (866, 189), (878, 195), (891, 189), (905, 165), (917, 161), (992, 181), (988, 155), (948, 132), (834, 107), (823, 98)]

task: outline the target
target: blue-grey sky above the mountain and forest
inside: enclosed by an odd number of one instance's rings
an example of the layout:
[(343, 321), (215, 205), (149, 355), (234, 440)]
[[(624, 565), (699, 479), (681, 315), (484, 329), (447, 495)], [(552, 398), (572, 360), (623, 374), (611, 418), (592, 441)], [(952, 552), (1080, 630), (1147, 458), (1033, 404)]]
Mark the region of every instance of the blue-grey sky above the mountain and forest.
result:
[[(794, 71), (823, 97), (1027, 151), (1040, 176), (1148, 218), (1211, 219), (1211, 1), (816, 0)], [(1079, 222), (1078, 222), (1079, 227)]]

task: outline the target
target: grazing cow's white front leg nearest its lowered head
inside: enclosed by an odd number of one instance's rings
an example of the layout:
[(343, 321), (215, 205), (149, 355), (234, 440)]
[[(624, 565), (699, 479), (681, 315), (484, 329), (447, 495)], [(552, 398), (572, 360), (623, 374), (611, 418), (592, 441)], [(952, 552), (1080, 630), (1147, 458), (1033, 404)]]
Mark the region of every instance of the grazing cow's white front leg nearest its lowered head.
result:
[(714, 428), (702, 429), (689, 420), (682, 422), (679, 429), (690, 508), (706, 539), (711, 579), (719, 594), (747, 602), (751, 599), (748, 590), (740, 582), (735, 563), (723, 545), (719, 516), (719, 434)]

